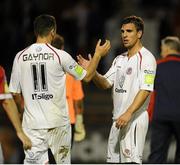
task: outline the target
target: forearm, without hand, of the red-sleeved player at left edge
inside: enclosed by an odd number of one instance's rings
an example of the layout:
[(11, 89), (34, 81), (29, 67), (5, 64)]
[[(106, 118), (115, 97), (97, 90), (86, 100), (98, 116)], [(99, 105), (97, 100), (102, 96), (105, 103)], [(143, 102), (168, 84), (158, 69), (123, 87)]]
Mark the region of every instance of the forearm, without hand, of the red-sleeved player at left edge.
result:
[(2, 103), (4, 110), (6, 111), (10, 121), (12, 122), (16, 132), (22, 132), (21, 121), (17, 106), (13, 99), (6, 99)]

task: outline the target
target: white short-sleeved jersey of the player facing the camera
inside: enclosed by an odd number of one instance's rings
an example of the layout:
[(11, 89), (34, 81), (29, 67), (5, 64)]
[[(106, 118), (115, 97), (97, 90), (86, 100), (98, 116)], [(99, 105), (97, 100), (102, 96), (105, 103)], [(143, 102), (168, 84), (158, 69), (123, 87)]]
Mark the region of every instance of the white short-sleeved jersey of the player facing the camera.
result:
[(117, 56), (104, 75), (113, 86), (113, 119), (132, 104), (140, 90), (153, 91), (156, 60), (146, 48), (128, 58), (127, 52)]

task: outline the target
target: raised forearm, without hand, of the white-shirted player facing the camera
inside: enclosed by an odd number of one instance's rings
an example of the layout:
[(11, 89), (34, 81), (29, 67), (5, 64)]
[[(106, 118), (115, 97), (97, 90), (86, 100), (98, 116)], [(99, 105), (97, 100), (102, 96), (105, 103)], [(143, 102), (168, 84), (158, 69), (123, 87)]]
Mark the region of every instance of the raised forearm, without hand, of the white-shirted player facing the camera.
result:
[(93, 77), (93, 82), (100, 89), (108, 89), (111, 87), (109, 82), (101, 74), (99, 74), (97, 71)]

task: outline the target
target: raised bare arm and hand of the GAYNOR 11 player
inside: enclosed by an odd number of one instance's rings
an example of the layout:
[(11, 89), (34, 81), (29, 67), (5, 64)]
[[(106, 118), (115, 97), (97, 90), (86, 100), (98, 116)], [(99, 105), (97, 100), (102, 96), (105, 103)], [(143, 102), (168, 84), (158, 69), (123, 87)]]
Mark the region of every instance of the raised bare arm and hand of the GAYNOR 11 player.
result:
[(85, 82), (91, 81), (91, 79), (95, 75), (95, 71), (96, 71), (96, 68), (99, 64), (101, 57), (104, 57), (108, 54), (110, 47), (111, 47), (111, 44), (110, 44), (109, 40), (106, 40), (103, 45), (101, 45), (101, 40), (99, 40), (97, 42), (94, 56), (93, 56), (92, 60), (90, 61), (89, 65), (87, 66), (87, 69), (86, 69), (87, 74), (83, 79)]

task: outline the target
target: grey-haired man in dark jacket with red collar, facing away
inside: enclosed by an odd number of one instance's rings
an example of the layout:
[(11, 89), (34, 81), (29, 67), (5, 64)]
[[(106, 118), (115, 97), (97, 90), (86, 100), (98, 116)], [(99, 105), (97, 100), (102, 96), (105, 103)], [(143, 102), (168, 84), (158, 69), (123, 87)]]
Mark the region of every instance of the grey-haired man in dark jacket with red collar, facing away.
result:
[(148, 107), (151, 121), (151, 164), (165, 164), (172, 136), (176, 139), (174, 163), (180, 163), (180, 40), (168, 36), (161, 40), (154, 92)]

